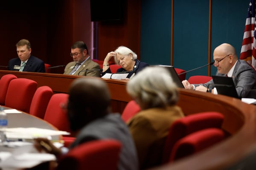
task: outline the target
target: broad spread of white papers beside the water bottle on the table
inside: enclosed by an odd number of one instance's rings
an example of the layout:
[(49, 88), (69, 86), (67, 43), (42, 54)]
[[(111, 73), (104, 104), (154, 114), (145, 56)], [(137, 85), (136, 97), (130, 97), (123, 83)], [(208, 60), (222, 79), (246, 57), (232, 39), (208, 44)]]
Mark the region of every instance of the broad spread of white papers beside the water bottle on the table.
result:
[(36, 137), (48, 137), (69, 134), (70, 133), (66, 131), (43, 129), (37, 127), (6, 128), (7, 139), (34, 139)]

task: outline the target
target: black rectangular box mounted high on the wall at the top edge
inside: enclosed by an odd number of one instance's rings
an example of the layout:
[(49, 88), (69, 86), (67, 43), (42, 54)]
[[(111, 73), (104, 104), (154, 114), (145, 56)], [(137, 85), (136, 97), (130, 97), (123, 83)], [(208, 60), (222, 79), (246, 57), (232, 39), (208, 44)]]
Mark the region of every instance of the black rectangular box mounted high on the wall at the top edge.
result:
[(125, 0), (90, 0), (91, 21), (123, 20)]

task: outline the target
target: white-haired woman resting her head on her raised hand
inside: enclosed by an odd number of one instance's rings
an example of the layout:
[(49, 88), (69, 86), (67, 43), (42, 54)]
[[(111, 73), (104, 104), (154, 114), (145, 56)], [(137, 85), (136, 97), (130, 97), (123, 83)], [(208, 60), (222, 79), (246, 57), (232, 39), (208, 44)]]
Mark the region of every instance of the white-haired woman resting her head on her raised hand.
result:
[(129, 74), (126, 78), (131, 78), (143, 68), (147, 67), (148, 64), (141, 62), (137, 59), (137, 54), (131, 51), (130, 48), (125, 46), (119, 46), (115, 51), (111, 51), (107, 54), (103, 62), (102, 76), (106, 73), (112, 73), (109, 68), (109, 60), (114, 57), (114, 60), (117, 65), (121, 65), (122, 68), (119, 68), (117, 72), (128, 71)]

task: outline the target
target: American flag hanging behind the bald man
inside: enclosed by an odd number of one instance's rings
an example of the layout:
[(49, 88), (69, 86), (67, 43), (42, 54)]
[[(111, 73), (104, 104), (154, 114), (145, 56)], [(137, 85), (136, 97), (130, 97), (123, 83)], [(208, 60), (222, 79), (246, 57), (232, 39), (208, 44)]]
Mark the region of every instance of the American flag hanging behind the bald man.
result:
[(256, 0), (250, 0), (244, 28), (244, 38), (240, 59), (244, 59), (256, 69)]

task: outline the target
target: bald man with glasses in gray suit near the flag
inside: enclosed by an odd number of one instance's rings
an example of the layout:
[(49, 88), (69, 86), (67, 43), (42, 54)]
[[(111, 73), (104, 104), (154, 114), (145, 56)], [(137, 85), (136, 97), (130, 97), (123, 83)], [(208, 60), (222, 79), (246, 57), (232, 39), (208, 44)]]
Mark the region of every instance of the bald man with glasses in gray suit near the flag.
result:
[[(244, 60), (238, 59), (235, 48), (227, 43), (223, 43), (213, 51), (214, 66), (218, 69), (217, 76), (232, 77), (236, 92), (240, 98), (256, 97), (256, 72)], [(189, 84), (187, 80), (183, 80), (186, 89), (194, 89), (197, 91), (208, 91), (217, 94), (215, 88), (207, 89), (213, 85), (213, 80), (204, 84)]]

